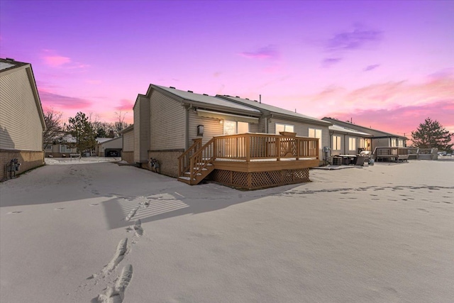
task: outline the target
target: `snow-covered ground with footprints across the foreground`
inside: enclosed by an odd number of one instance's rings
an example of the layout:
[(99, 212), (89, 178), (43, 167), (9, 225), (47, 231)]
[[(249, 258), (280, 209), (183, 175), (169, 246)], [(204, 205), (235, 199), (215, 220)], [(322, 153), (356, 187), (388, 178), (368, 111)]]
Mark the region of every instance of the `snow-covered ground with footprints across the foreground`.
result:
[(0, 302), (454, 298), (454, 162), (311, 170), (241, 192), (49, 161), (67, 165), (0, 184)]

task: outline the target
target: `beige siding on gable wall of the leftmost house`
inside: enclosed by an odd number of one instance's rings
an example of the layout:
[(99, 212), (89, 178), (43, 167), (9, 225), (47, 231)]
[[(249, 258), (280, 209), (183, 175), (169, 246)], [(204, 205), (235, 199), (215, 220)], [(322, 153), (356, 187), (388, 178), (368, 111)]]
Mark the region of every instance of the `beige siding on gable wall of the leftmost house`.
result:
[(0, 77), (0, 149), (43, 150), (43, 124), (26, 69)]

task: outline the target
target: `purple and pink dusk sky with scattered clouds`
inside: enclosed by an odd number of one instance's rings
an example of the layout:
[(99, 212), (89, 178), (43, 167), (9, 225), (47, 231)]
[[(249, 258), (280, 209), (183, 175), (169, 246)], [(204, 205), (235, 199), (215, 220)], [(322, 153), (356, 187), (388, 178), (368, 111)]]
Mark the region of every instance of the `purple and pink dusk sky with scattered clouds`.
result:
[(148, 84), (406, 134), (454, 131), (454, 1), (5, 1), (44, 109), (112, 121)]

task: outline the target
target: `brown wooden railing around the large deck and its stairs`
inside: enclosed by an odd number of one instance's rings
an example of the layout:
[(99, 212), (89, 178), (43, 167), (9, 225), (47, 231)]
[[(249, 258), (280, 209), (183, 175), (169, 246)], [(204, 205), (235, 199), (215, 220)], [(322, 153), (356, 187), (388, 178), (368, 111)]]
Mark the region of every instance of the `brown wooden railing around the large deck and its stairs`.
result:
[[(194, 145), (193, 145), (194, 147)], [(192, 150), (195, 148), (192, 147)], [(265, 133), (241, 133), (216, 136), (192, 153), (179, 157), (179, 175), (190, 172), (190, 178), (201, 173), (213, 160), (251, 162), (254, 160), (280, 161), (319, 160), (319, 139)]]

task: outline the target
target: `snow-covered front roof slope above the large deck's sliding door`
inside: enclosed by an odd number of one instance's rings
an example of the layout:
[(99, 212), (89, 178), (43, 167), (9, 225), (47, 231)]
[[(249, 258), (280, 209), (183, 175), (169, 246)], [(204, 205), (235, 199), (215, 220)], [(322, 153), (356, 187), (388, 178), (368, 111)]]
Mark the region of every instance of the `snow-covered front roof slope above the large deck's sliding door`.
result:
[(178, 97), (188, 100), (188, 101), (196, 101), (205, 104), (211, 104), (216, 106), (224, 106), (231, 109), (240, 109), (242, 111), (250, 111), (251, 113), (259, 114), (260, 111), (257, 109), (253, 109), (249, 106), (244, 106), (241, 104), (236, 104), (232, 101), (228, 101), (226, 99), (221, 99), (218, 97), (209, 96), (207, 94), (195, 94), (194, 92), (186, 92), (175, 88), (170, 87), (162, 87), (160, 85), (152, 84), (154, 87), (159, 87), (160, 89), (164, 89), (166, 92), (170, 92), (171, 94), (175, 94)]

